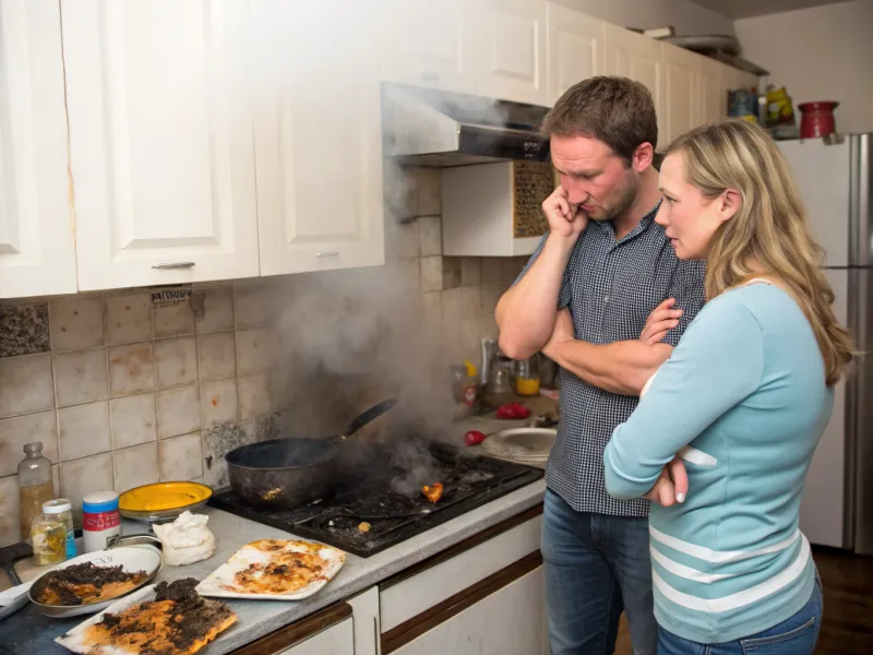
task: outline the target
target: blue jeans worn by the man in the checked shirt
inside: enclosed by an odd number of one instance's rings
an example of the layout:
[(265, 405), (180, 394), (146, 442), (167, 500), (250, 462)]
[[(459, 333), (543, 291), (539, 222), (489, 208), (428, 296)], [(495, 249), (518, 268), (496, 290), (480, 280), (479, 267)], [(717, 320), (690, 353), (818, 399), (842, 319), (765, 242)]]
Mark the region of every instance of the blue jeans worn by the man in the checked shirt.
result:
[(655, 655), (648, 519), (576, 512), (547, 489), (541, 550), (552, 655), (612, 655), (622, 609), (635, 655)]

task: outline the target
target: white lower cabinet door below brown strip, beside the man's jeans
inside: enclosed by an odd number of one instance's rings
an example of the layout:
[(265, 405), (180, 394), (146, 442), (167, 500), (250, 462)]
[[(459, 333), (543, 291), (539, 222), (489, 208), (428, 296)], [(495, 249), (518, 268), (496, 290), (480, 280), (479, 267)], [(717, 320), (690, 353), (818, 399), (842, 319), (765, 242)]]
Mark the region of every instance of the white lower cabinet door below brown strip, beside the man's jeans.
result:
[(546, 654), (542, 567), (509, 583), (396, 651), (396, 655)]

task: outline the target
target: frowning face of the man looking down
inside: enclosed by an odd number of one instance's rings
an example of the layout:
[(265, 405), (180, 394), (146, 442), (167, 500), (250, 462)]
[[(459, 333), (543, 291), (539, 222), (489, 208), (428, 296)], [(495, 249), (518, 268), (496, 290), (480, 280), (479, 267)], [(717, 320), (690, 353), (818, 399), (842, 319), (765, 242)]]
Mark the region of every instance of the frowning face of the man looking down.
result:
[(552, 164), (570, 204), (593, 221), (610, 221), (635, 200), (639, 180), (627, 162), (591, 136), (552, 136)]

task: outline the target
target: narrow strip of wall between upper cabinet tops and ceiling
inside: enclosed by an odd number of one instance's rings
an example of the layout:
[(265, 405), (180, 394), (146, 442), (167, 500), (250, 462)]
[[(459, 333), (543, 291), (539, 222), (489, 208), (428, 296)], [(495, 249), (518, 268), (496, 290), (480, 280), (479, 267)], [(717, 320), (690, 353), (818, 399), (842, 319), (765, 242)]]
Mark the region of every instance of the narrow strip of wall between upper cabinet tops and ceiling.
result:
[(595, 19), (622, 27), (663, 27), (672, 25), (677, 34), (733, 35), (733, 21), (690, 0), (557, 0)]

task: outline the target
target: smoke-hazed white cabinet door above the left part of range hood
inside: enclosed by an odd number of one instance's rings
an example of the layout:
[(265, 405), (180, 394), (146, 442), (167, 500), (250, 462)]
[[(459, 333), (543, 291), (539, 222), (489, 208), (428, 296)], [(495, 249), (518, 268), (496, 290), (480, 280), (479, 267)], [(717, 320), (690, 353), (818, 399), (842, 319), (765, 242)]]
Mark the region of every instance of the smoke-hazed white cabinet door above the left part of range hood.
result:
[(464, 38), (470, 25), (462, 0), (384, 0), (384, 4), (385, 80), (467, 93), (476, 91), (476, 74)]

